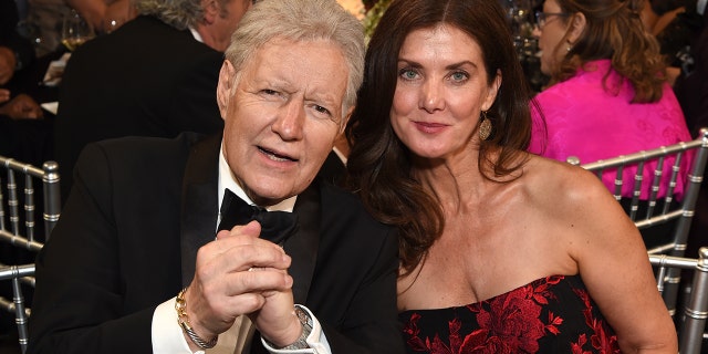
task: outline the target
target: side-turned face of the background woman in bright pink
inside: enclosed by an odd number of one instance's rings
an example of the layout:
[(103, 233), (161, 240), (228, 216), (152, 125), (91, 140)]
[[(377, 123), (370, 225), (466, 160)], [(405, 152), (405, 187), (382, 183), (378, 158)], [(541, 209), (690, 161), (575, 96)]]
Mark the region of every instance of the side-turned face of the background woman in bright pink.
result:
[(541, 72), (549, 75), (568, 53), (570, 44), (564, 37), (568, 32), (569, 14), (563, 13), (555, 0), (543, 2), (543, 25), (537, 27), (541, 55)]

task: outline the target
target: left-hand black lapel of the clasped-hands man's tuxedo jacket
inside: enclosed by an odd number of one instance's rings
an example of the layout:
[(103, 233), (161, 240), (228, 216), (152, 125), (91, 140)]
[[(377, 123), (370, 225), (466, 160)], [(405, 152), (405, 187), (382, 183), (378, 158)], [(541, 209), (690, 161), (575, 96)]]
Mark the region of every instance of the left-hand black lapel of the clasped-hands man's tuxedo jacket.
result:
[(197, 250), (216, 237), (220, 143), (220, 135), (197, 143), (185, 168), (180, 236), (183, 287), (194, 278)]

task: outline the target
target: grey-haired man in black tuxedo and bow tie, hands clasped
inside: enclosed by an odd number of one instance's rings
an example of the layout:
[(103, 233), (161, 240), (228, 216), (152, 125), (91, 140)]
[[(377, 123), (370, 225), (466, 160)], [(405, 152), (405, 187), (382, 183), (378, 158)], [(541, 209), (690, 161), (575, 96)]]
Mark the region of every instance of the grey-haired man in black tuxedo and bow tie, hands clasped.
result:
[(226, 58), (222, 134), (82, 153), (37, 259), (30, 353), (403, 352), (395, 230), (317, 176), (363, 80), (361, 23), (262, 0)]

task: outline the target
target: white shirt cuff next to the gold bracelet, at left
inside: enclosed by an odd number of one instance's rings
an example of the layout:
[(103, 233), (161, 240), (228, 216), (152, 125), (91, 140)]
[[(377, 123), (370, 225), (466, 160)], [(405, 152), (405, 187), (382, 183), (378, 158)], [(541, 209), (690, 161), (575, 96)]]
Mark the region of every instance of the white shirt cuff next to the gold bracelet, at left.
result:
[(189, 350), (189, 344), (177, 322), (175, 298), (160, 303), (155, 309), (152, 334), (154, 354), (204, 354), (204, 351)]

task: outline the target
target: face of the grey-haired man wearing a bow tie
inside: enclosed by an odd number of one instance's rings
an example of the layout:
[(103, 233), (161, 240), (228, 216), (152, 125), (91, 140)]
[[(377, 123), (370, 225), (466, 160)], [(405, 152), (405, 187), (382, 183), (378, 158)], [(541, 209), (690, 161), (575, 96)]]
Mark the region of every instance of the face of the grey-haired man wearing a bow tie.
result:
[(271, 41), (238, 77), (225, 62), (217, 88), (223, 154), (254, 202), (272, 205), (310, 185), (344, 126), (346, 67), (342, 51), (320, 40)]

